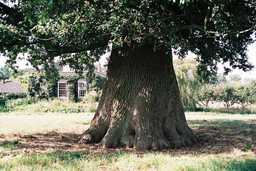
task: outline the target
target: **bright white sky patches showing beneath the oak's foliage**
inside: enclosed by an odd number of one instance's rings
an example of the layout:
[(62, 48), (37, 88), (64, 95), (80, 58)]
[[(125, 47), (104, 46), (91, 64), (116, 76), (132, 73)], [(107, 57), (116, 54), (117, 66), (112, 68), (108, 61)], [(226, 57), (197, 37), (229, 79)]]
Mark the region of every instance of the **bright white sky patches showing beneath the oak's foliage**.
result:
[[(247, 50), (248, 50), (247, 54), (248, 54), (250, 63), (252, 63), (253, 66), (256, 67), (256, 42), (251, 44), (250, 46), (248, 46)], [(110, 55), (110, 52), (104, 54), (101, 57), (101, 59), (99, 60), (101, 65), (105, 65), (107, 63), (106, 58), (108, 58), (109, 55)], [(174, 58), (177, 58), (177, 57), (174, 56)], [(195, 55), (194, 54), (189, 54), (186, 58), (195, 58)], [(0, 56), (0, 67), (5, 66), (6, 59), (7, 59), (6, 57)], [(26, 66), (26, 63), (28, 63), (26, 60), (17, 60), (17, 66), (19, 66), (20, 69), (31, 67), (30, 64), (29, 64), (29, 66)], [(225, 66), (229, 66), (229, 65), (225, 64)], [(223, 73), (224, 72), (223, 67), (224, 66), (221, 63), (218, 64), (218, 68), (219, 68), (218, 72)], [(248, 71), (248, 72), (244, 72), (244, 71), (239, 70), (239, 69), (234, 69), (228, 75), (233, 75), (233, 74), (239, 74), (242, 79), (244, 79), (244, 78), (256, 79), (256, 69), (255, 68), (252, 71)]]

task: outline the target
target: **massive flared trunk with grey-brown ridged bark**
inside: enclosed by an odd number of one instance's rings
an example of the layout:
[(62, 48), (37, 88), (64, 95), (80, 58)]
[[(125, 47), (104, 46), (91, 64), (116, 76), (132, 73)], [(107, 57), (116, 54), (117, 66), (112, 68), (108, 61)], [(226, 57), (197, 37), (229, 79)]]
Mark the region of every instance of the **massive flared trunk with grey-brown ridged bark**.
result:
[(103, 148), (153, 150), (196, 143), (186, 123), (172, 57), (151, 45), (112, 49), (102, 98), (79, 139)]

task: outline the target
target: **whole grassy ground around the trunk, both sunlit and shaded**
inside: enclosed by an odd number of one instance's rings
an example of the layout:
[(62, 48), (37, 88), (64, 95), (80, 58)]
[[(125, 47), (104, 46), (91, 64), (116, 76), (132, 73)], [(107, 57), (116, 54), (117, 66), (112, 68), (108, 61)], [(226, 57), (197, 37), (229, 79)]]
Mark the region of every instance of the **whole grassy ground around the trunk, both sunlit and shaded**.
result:
[(0, 170), (256, 171), (256, 115), (186, 113), (201, 141), (157, 152), (77, 144), (92, 118), (0, 114)]

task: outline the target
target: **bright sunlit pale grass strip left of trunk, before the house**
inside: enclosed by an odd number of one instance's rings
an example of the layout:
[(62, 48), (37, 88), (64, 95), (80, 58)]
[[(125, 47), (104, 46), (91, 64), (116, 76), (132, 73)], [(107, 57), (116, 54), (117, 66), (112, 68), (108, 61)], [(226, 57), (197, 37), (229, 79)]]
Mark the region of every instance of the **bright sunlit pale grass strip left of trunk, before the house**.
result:
[(0, 134), (32, 134), (49, 131), (77, 132), (90, 126), (93, 113), (85, 114), (20, 114), (0, 115)]

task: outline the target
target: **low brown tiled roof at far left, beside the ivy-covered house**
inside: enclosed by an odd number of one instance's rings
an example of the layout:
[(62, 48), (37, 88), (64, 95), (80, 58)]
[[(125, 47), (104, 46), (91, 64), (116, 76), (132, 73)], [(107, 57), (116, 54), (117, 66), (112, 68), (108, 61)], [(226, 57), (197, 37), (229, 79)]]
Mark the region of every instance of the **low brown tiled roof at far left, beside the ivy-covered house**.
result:
[(0, 93), (23, 94), (25, 91), (20, 82), (6, 82), (0, 83)]

